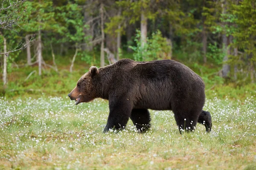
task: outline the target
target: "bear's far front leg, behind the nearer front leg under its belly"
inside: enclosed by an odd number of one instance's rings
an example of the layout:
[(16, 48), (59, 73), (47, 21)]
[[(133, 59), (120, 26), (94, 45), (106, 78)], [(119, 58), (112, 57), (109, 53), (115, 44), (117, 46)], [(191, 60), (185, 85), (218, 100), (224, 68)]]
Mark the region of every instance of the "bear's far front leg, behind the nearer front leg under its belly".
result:
[(138, 132), (145, 132), (151, 126), (151, 118), (148, 109), (133, 109), (131, 111), (130, 118), (136, 126)]

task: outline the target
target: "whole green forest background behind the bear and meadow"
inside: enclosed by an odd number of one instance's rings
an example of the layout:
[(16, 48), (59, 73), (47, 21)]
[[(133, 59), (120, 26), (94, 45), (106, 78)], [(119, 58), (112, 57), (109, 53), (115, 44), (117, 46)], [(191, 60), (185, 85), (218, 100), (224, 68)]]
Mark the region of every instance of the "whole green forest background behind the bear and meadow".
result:
[(3, 0), (1, 94), (37, 93), (48, 87), (39, 82), (51, 81), (52, 74), (66, 88), (58, 77), (73, 77), (69, 73), (74, 70), (85, 72), (90, 65), (102, 67), (121, 58), (177, 60), (201, 75), (211, 89), (255, 87), (255, 3)]

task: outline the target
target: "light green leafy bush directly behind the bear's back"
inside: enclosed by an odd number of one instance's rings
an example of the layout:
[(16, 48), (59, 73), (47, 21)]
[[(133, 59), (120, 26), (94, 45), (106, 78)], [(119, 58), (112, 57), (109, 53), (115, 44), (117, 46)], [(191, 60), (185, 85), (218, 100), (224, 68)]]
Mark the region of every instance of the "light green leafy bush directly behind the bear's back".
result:
[(129, 48), (134, 50), (134, 59), (137, 61), (164, 59), (171, 51), (171, 46), (168, 45), (166, 38), (162, 36), (159, 30), (152, 33), (151, 38), (147, 37), (147, 43), (143, 47), (140, 40), (140, 31), (138, 30), (134, 41), (136, 46), (129, 46)]

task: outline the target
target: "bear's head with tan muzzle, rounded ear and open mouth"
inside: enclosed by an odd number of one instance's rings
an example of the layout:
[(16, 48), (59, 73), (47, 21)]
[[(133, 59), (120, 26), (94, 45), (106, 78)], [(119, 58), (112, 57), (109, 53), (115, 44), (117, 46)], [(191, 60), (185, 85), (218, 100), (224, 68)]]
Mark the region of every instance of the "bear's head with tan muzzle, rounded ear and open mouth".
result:
[(71, 100), (76, 100), (76, 105), (81, 102), (90, 102), (97, 97), (96, 88), (93, 85), (93, 77), (99, 74), (95, 66), (85, 73), (77, 82), (76, 87), (67, 95)]

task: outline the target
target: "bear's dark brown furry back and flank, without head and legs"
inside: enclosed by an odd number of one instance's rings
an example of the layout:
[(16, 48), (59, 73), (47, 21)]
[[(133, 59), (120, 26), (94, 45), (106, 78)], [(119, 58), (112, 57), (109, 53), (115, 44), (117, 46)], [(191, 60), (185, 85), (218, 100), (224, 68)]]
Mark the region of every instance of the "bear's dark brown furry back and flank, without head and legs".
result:
[(116, 63), (114, 84), (129, 93), (136, 108), (171, 109), (171, 103), (191, 98), (204, 100), (204, 82), (190, 68), (174, 60), (135, 62), (122, 59)]

